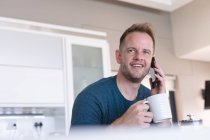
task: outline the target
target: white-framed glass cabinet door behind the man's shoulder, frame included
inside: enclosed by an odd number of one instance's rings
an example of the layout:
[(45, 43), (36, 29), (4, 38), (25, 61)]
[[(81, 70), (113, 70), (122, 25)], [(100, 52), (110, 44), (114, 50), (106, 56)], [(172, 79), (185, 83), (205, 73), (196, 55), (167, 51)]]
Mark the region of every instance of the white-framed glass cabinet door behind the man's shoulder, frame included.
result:
[(72, 81), (72, 97), (75, 98), (86, 86), (110, 76), (109, 46), (105, 40), (70, 37), (67, 41), (69, 81)]

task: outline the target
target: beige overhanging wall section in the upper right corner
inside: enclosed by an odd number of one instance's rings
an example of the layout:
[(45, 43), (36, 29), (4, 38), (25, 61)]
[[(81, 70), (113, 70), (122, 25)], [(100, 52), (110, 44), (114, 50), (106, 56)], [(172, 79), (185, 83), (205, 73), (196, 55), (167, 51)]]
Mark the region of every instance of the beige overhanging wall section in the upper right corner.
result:
[(194, 0), (171, 14), (177, 56), (209, 46), (209, 14), (209, 0)]

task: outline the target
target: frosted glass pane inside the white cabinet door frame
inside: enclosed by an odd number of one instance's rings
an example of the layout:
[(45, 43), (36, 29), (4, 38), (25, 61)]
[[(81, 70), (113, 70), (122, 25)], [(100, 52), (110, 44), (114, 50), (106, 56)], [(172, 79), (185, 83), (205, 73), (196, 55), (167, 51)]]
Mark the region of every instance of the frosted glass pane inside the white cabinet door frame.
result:
[(72, 45), (74, 97), (103, 77), (102, 49)]

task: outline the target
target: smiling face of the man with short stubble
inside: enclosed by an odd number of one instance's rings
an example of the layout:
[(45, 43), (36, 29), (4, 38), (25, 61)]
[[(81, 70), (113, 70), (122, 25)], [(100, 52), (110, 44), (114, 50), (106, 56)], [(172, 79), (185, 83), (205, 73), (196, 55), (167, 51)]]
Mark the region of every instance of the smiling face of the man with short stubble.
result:
[(116, 53), (120, 72), (126, 79), (139, 83), (150, 69), (154, 53), (152, 38), (146, 33), (132, 32), (122, 45), (122, 49)]

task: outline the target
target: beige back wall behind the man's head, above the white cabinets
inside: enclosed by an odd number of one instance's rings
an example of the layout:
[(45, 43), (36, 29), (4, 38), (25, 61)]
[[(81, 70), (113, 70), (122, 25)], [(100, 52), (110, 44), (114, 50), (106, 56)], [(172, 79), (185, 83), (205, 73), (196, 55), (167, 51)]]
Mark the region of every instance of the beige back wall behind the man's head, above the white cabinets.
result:
[(179, 119), (193, 113), (210, 122), (207, 118), (210, 112), (203, 109), (201, 97), (204, 81), (210, 79), (210, 64), (175, 56), (169, 13), (116, 5), (113, 1), (104, 0), (0, 0), (0, 16), (105, 31), (110, 43), (113, 70), (118, 69), (114, 51), (118, 48), (123, 30), (136, 22), (151, 22), (157, 39), (157, 61), (166, 74), (176, 75), (178, 79), (176, 98)]

